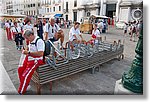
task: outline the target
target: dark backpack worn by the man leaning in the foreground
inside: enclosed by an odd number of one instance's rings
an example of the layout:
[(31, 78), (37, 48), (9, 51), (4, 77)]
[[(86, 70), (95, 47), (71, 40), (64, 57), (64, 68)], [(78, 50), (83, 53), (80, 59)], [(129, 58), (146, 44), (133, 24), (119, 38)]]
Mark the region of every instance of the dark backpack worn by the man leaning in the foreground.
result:
[[(41, 39), (41, 38), (37, 38), (35, 43), (31, 43), (31, 44), (34, 44), (35, 46), (37, 46), (37, 41)], [(44, 50), (44, 56), (47, 56), (47, 55), (50, 55), (50, 52), (51, 52), (51, 44), (49, 41), (44, 41), (45, 43), (45, 50)]]

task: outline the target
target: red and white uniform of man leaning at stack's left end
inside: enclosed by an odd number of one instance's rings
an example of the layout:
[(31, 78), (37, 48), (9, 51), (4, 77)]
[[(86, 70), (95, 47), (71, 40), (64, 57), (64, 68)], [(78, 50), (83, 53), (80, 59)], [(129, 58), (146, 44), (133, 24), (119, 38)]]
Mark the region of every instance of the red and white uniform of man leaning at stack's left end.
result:
[[(36, 39), (38, 37), (35, 37), (35, 39), (31, 43), (35, 43)], [(38, 39), (37, 44), (29, 44), (29, 51), (37, 52), (37, 51), (43, 51), (45, 50), (45, 44), (42, 39)], [(26, 56), (23, 66), (18, 68), (18, 75), (20, 79), (20, 86), (18, 88), (19, 94), (24, 94), (26, 92), (26, 89), (29, 85), (29, 82), (32, 78), (32, 75), (34, 71), (39, 67), (39, 65), (42, 65), (43, 63), (43, 57), (35, 57), (35, 56)]]

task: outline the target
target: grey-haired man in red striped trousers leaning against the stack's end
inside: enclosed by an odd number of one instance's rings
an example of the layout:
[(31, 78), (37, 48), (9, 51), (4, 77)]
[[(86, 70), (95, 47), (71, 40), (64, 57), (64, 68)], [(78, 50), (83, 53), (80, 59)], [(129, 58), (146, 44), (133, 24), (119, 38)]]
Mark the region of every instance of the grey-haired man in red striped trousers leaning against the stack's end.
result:
[[(22, 51), (26, 55), (23, 65), (18, 68), (18, 75), (20, 85), (18, 88), (19, 94), (24, 94), (29, 87), (30, 80), (34, 71), (44, 64), (43, 55), (45, 50), (45, 44), (42, 39), (34, 35), (32, 30), (24, 31), (25, 39), (28, 39), (31, 43), (29, 48)], [(35, 44), (36, 43), (36, 44)]]

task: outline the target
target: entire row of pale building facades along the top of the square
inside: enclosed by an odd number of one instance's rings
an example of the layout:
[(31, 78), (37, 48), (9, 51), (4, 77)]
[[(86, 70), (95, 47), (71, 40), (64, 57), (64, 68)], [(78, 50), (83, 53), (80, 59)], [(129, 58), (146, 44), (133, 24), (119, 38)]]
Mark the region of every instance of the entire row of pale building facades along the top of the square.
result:
[[(142, 16), (143, 0), (2, 0), (2, 11), (28, 16), (58, 16), (80, 21), (91, 15), (108, 16), (118, 21), (133, 21)], [(3, 3), (4, 2), (4, 3)]]

